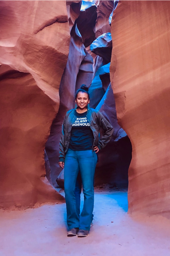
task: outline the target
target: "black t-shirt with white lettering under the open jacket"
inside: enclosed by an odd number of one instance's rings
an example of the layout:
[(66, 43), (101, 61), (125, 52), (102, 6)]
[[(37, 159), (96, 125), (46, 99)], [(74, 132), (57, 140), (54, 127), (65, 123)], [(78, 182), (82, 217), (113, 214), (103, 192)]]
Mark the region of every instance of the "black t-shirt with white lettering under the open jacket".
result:
[(92, 149), (94, 136), (86, 114), (87, 111), (81, 114), (76, 112), (75, 114), (77, 118), (72, 124), (69, 144), (69, 148), (72, 150), (76, 151)]

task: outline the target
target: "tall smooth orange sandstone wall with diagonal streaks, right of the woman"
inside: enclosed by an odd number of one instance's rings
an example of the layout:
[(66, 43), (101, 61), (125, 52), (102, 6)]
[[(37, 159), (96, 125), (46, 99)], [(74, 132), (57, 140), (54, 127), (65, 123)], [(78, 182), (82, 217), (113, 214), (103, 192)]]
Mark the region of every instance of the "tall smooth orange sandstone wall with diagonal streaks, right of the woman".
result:
[(169, 17), (169, 0), (121, 0), (111, 24), (118, 123), (133, 147), (130, 213), (170, 213)]

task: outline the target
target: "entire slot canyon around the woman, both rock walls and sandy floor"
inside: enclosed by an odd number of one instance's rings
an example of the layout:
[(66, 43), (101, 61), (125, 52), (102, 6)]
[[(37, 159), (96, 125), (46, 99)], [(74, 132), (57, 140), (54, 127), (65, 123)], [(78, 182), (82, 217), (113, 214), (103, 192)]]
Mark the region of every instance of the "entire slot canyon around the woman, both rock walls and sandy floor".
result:
[[(0, 256), (170, 256), (169, 0), (6, 0), (0, 13)], [(82, 84), (114, 128), (84, 238), (67, 237), (58, 163)]]

